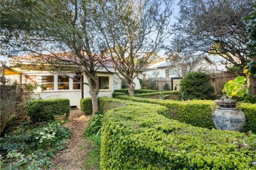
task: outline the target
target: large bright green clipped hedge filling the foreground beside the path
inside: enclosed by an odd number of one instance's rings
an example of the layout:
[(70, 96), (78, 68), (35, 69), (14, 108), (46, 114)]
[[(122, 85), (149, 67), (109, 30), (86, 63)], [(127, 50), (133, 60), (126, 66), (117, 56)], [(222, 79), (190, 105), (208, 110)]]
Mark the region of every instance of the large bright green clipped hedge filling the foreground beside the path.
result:
[[(104, 104), (111, 105), (113, 99), (107, 100)], [(136, 102), (107, 111), (101, 168), (253, 169), (256, 135), (193, 127), (160, 114), (168, 110)]]

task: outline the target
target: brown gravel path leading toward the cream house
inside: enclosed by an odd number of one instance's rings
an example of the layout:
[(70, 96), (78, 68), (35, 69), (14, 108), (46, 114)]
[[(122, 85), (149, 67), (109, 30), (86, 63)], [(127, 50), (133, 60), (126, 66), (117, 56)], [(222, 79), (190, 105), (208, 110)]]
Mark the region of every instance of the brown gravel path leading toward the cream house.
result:
[(52, 169), (82, 169), (86, 150), (81, 149), (82, 135), (90, 116), (81, 114), (79, 109), (71, 109), (69, 122), (65, 126), (72, 131), (65, 150), (58, 152), (52, 160)]

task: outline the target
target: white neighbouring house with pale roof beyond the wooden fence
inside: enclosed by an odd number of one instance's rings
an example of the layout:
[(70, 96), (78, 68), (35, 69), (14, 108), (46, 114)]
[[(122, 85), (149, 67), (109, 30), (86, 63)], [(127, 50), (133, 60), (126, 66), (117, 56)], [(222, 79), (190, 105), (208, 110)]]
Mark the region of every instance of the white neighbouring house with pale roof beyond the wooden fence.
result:
[(226, 67), (231, 67), (232, 64), (220, 56), (205, 56), (198, 61), (186, 61), (173, 63), (171, 61), (161, 61), (148, 67), (148, 70), (143, 72), (143, 79), (148, 78), (180, 78), (189, 71), (204, 71), (214, 73), (226, 71)]

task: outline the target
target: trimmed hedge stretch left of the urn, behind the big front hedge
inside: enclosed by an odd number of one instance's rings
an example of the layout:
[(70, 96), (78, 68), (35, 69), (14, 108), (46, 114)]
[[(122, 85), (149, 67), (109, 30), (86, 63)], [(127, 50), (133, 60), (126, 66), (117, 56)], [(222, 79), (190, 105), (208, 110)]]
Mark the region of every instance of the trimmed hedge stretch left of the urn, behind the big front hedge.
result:
[(193, 101), (173, 101), (137, 98), (130, 96), (118, 96), (118, 99), (132, 100), (134, 102), (152, 103), (165, 106), (169, 110), (168, 118), (179, 120), (193, 126), (202, 128), (215, 128), (212, 121), (213, 101), (193, 100)]

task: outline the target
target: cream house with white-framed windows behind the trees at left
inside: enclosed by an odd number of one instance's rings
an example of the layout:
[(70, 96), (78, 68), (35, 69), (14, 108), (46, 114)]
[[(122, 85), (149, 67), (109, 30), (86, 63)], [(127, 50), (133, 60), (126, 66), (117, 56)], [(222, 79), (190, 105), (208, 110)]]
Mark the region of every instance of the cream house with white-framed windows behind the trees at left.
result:
[[(46, 90), (42, 91), (40, 95), (33, 95), (33, 98), (41, 98), (41, 99), (55, 99), (55, 98), (68, 98), (70, 100), (71, 106), (80, 105), (80, 99), (82, 98), (90, 98), (89, 94), (89, 86), (81, 84), (78, 81), (75, 81), (72, 78), (80, 80), (82, 82), (88, 83), (88, 80), (83, 72), (77, 73), (75, 72), (75, 67), (70, 66), (70, 68), (66, 67), (66, 72), (50, 72), (46, 71), (40, 67), (30, 67), (30, 69), (26, 70), (25, 65), (32, 65), (32, 61), (30, 61), (29, 57), (12, 57), (9, 58), (10, 67), (13, 70), (19, 71), (19, 76), (12, 75), (11, 77), (6, 76), (7, 78), (16, 79), (17, 81), (21, 81), (20, 83), (29, 83), (29, 82), (37, 82), (38, 84), (44, 84), (46, 86)], [(16, 63), (19, 64), (16, 64)], [(19, 65), (17, 67), (17, 65)], [(118, 75), (122, 78), (121, 74), (115, 71), (112, 62), (108, 62), (104, 65), (108, 70), (104, 67), (100, 67), (97, 70), (97, 76), (99, 77), (100, 90), (98, 96), (112, 96), (114, 90), (118, 90), (121, 88), (126, 88), (125, 80), (120, 79)], [(69, 78), (69, 77), (72, 78)], [(142, 79), (142, 70), (139, 72), (138, 77), (135, 78), (135, 89), (140, 89), (139, 79)], [(41, 91), (40, 87), (36, 89), (37, 92)]]

